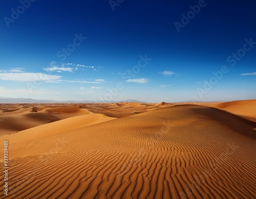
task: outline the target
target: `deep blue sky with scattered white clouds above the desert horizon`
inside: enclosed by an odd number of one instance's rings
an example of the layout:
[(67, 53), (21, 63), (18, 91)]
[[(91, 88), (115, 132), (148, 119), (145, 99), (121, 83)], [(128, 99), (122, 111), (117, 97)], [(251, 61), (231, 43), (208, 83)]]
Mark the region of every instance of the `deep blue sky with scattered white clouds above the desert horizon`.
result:
[(255, 0), (118, 2), (1, 0), (0, 97), (256, 99)]

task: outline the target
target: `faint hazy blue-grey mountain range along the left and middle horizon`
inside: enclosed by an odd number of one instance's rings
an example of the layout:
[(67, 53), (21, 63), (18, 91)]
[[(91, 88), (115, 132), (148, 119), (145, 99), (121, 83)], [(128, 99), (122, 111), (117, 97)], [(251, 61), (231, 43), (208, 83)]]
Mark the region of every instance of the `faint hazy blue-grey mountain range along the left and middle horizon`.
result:
[(75, 100), (68, 100), (68, 101), (58, 101), (58, 100), (36, 100), (32, 98), (8, 98), (8, 97), (0, 97), (0, 103), (19, 103), (19, 104), (26, 104), (26, 103), (118, 103), (118, 102), (138, 102), (143, 103), (142, 101), (127, 99), (124, 101), (90, 101), (90, 100), (83, 100), (83, 101), (75, 101)]

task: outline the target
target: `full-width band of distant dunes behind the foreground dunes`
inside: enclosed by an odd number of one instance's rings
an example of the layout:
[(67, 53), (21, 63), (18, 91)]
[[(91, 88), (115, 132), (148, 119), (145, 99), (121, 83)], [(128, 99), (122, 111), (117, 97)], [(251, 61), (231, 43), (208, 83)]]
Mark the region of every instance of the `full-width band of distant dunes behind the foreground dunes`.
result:
[[(187, 103), (94, 103), (94, 104), (0, 104), (0, 137), (59, 120), (88, 115), (102, 114), (112, 118), (122, 118), (145, 113), (159, 108)], [(256, 100), (233, 102), (189, 102), (226, 110), (232, 114), (256, 122)], [(4, 122), (3, 122), (4, 121)]]

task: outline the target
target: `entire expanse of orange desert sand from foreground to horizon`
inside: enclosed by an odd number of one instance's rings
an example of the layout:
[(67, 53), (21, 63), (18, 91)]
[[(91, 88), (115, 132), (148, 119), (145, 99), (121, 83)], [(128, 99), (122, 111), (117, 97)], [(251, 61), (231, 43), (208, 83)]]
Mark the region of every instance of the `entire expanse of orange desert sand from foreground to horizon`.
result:
[(0, 198), (256, 198), (256, 100), (0, 107)]

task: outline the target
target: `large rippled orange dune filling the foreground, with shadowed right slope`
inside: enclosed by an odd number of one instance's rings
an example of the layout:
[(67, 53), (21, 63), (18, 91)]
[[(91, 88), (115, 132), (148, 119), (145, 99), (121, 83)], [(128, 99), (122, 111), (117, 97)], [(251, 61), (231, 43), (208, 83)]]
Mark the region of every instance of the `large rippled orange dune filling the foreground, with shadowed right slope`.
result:
[(224, 110), (178, 105), (10, 137), (6, 198), (255, 198), (254, 127)]

